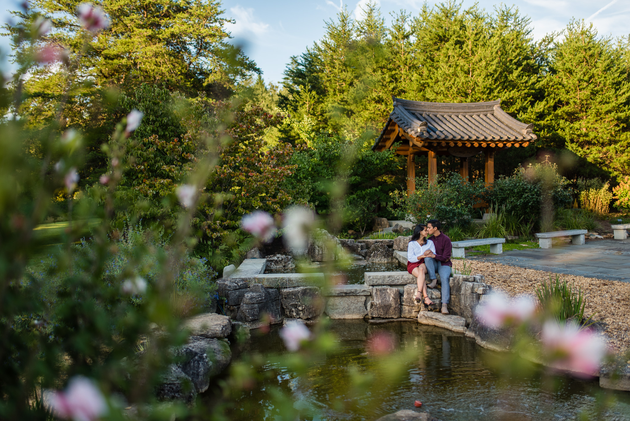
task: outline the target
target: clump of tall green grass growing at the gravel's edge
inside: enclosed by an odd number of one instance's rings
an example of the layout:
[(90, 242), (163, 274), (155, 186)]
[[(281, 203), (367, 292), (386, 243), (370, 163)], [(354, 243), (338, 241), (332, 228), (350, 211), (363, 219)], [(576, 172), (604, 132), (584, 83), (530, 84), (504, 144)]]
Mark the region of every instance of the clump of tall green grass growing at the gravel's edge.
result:
[(551, 276), (549, 283), (543, 281), (540, 287), (536, 288), (536, 296), (541, 311), (554, 317), (561, 324), (573, 321), (584, 328), (593, 324), (591, 321), (593, 316), (584, 318), (585, 301), (581, 288), (570, 285), (566, 280), (561, 281), (558, 275), (555, 281)]

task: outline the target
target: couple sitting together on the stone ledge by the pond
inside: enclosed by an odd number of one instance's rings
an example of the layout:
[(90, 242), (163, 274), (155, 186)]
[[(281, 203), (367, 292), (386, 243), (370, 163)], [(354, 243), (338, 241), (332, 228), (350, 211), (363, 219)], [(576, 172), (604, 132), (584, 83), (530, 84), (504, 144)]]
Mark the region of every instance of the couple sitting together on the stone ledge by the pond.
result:
[[(450, 298), (450, 238), (440, 232), (442, 223), (437, 219), (427, 221), (427, 225), (419, 223), (413, 230), (413, 236), (407, 247), (407, 271), (418, 278), (417, 303), (424, 300), (425, 305), (433, 304), (427, 295), (425, 274), (428, 273), (431, 282), (429, 288), (437, 286), (436, 273), (440, 274), (442, 283), (442, 314), (449, 314), (447, 304)], [(427, 237), (431, 236), (429, 239)], [(421, 295), (420, 295), (421, 294)]]

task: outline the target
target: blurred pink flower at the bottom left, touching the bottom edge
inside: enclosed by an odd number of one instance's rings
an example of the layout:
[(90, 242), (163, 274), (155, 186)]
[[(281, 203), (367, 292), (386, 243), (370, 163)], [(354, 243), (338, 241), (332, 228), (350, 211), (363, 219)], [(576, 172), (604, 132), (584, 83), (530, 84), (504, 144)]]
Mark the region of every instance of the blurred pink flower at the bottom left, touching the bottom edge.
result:
[(95, 421), (107, 413), (107, 405), (95, 382), (82, 376), (71, 379), (65, 392), (54, 391), (48, 408), (58, 418)]

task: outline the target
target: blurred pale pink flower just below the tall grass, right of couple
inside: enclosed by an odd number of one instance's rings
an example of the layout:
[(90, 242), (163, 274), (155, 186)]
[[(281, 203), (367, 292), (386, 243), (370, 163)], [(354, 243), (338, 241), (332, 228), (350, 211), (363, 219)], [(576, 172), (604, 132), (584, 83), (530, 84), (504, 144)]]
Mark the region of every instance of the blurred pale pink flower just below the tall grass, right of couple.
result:
[(488, 294), (488, 300), (478, 305), (475, 314), (479, 321), (489, 328), (501, 328), (527, 321), (536, 311), (536, 303), (527, 295), (521, 295), (514, 300), (508, 300), (500, 293)]

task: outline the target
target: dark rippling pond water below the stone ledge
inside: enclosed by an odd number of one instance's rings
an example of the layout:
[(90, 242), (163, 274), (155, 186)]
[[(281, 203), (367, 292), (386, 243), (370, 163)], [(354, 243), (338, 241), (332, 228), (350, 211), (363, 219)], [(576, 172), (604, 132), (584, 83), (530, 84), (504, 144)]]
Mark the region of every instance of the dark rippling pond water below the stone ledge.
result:
[[(295, 408), (311, 408), (319, 413), (300, 418), (307, 420), (372, 421), (403, 409), (418, 410), (413, 405), (415, 400), (423, 403), (418, 411), (442, 421), (570, 420), (580, 419), (581, 412), (592, 415), (597, 410), (596, 396), (602, 394), (608, 394), (614, 403), (600, 419), (630, 420), (630, 393), (605, 391), (597, 381), (546, 376), (541, 370), (529, 377), (505, 379), (491, 368), (491, 362), (500, 354), (445, 329), (415, 321), (369, 324), (364, 320), (334, 320), (329, 329), (340, 338), (341, 351), (327, 355), (302, 376), (282, 363), (290, 356), (278, 328), (266, 335), (252, 335), (248, 352), (260, 353), (266, 360), (263, 374), (268, 372), (269, 376), (238, 396), (236, 408), (226, 410), (226, 417), (274, 420), (276, 408), (270, 393), (280, 388), (294, 398)], [(375, 359), (365, 347), (366, 338), (378, 331), (392, 334), (399, 350), (418, 355), (410, 363), (401, 363), (405, 364), (403, 376), (395, 384), (352, 396), (350, 371), (365, 373), (374, 369)], [(283, 357), (272, 362), (267, 358), (270, 353)]]

